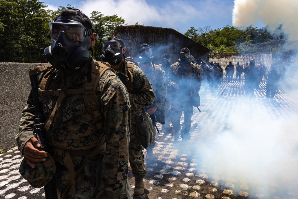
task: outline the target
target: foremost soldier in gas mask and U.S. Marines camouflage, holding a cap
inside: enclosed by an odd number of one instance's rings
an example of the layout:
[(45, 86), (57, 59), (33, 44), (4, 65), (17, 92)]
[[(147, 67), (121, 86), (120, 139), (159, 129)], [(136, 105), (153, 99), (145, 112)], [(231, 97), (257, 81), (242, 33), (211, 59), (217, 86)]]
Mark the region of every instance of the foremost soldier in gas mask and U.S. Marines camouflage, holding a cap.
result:
[[(126, 88), (92, 59), (96, 33), (80, 10), (63, 9), (50, 23), (50, 38), (49, 63), (34, 70), (49, 150), (33, 134), (37, 110), (30, 92), (16, 136), (24, 155), (20, 173), (34, 187), (54, 181), (58, 198), (130, 198)], [(43, 177), (44, 171), (52, 175)]]

